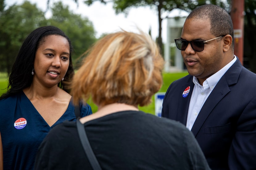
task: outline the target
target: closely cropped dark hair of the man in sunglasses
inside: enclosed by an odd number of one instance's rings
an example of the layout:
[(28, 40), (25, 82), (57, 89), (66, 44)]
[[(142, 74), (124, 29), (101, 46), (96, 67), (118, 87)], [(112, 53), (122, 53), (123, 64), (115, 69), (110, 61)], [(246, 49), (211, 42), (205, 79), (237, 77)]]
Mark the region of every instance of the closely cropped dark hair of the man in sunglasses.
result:
[(187, 17), (187, 19), (209, 19), (211, 24), (211, 33), (216, 36), (231, 35), (232, 37), (232, 51), (234, 51), (234, 30), (231, 17), (223, 8), (207, 4), (197, 7)]

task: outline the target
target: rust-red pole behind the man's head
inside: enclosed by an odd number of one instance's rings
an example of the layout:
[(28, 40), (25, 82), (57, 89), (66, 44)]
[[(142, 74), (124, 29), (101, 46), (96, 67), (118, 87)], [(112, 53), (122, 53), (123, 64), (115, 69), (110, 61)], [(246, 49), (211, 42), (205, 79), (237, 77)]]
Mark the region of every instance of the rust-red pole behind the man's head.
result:
[(244, 4), (244, 0), (232, 0), (230, 13), (234, 28), (234, 54), (239, 58), (242, 64), (244, 57)]

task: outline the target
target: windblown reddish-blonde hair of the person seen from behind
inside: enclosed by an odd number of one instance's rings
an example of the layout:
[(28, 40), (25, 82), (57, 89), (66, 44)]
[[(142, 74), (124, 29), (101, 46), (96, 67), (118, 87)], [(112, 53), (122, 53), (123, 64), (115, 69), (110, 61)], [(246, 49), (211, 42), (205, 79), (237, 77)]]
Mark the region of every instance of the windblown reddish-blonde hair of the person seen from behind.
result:
[(86, 54), (72, 81), (74, 103), (91, 96), (98, 106), (116, 102), (145, 106), (162, 86), (163, 57), (142, 31), (106, 35)]

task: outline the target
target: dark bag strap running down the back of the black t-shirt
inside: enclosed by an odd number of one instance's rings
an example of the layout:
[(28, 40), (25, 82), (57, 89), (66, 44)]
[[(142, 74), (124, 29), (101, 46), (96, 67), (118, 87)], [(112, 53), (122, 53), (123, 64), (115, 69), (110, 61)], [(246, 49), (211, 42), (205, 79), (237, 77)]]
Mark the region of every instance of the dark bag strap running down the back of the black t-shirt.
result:
[(78, 135), (81, 141), (81, 144), (85, 150), (85, 154), (93, 168), (93, 170), (101, 170), (101, 166), (96, 158), (96, 156), (93, 153), (93, 149), (91, 148), (91, 145), (88, 141), (86, 132), (85, 132), (85, 126), (79, 121), (79, 119), (76, 120), (76, 127), (78, 131)]

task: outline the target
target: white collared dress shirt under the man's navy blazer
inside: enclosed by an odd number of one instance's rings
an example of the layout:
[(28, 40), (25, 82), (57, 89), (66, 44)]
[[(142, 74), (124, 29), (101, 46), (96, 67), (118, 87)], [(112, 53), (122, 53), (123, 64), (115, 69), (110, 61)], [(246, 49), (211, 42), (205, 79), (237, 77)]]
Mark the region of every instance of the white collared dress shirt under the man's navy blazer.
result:
[(207, 78), (203, 82), (203, 86), (198, 83), (198, 80), (195, 76), (193, 77), (193, 83), (195, 84), (195, 87), (192, 91), (187, 117), (187, 128), (189, 130), (192, 129), (192, 126), (194, 125), (194, 122), (196, 121), (196, 118), (202, 106), (204, 105), (204, 102), (211, 94), (216, 84), (219, 82), (219, 80), (225, 74), (225, 72), (235, 63), (236, 60), (237, 57), (234, 56), (234, 59), (230, 61), (227, 65), (225, 65), (225, 67), (221, 68), (215, 74)]

